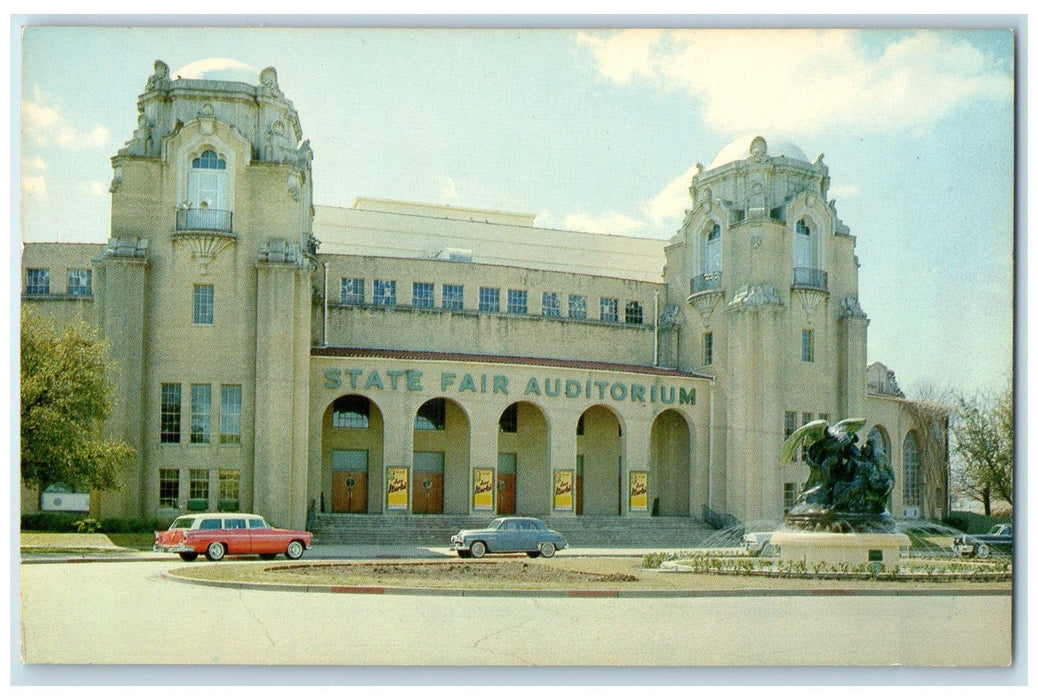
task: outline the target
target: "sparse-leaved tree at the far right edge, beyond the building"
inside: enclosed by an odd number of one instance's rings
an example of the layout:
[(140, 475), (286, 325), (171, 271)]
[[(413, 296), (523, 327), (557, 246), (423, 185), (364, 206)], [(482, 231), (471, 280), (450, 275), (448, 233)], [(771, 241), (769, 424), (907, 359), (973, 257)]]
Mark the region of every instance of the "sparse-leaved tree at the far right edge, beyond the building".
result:
[(965, 495), (984, 504), (992, 497), (1013, 505), (1013, 388), (998, 395), (959, 395), (952, 428), (955, 454), (961, 459), (956, 483)]

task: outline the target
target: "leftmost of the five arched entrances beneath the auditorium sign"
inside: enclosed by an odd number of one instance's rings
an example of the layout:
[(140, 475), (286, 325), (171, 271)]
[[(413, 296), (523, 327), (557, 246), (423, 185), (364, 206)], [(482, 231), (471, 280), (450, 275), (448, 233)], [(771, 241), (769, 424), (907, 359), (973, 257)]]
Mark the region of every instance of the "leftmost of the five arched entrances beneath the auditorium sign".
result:
[(378, 512), (382, 503), (383, 419), (378, 405), (349, 394), (325, 410), (321, 446), (321, 510)]

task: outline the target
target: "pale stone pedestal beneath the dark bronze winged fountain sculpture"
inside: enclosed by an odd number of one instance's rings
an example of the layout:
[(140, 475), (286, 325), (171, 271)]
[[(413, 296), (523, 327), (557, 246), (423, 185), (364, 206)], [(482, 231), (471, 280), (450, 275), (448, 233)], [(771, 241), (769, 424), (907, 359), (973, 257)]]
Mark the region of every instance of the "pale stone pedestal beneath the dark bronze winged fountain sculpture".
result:
[(780, 561), (802, 561), (855, 568), (874, 562), (891, 570), (901, 561), (901, 548), (910, 543), (901, 533), (827, 533), (780, 530), (771, 536)]

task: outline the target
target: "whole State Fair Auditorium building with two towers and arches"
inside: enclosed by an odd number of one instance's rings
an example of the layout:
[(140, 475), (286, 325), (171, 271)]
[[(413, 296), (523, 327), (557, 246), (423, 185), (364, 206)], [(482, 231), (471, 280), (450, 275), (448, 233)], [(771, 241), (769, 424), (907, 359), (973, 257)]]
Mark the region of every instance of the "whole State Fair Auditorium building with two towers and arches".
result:
[(893, 465), (896, 517), (947, 509), (944, 439), (928, 455), (934, 427), (868, 365), (821, 157), (737, 140), (654, 240), (318, 206), (273, 69), (246, 84), (157, 61), (138, 112), (108, 242), (23, 247), (23, 304), (95, 326), (114, 359), (106, 430), (136, 458), (89, 495), (95, 517), (777, 519), (808, 478), (780, 464), (785, 436), (848, 416)]

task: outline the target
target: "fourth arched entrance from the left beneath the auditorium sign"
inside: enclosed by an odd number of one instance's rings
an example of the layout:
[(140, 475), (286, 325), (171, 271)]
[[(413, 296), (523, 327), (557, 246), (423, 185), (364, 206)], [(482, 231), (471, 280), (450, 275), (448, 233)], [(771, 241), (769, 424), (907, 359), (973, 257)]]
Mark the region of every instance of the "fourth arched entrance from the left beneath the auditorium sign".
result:
[(623, 503), (623, 427), (607, 406), (592, 406), (577, 422), (578, 515), (620, 515)]

